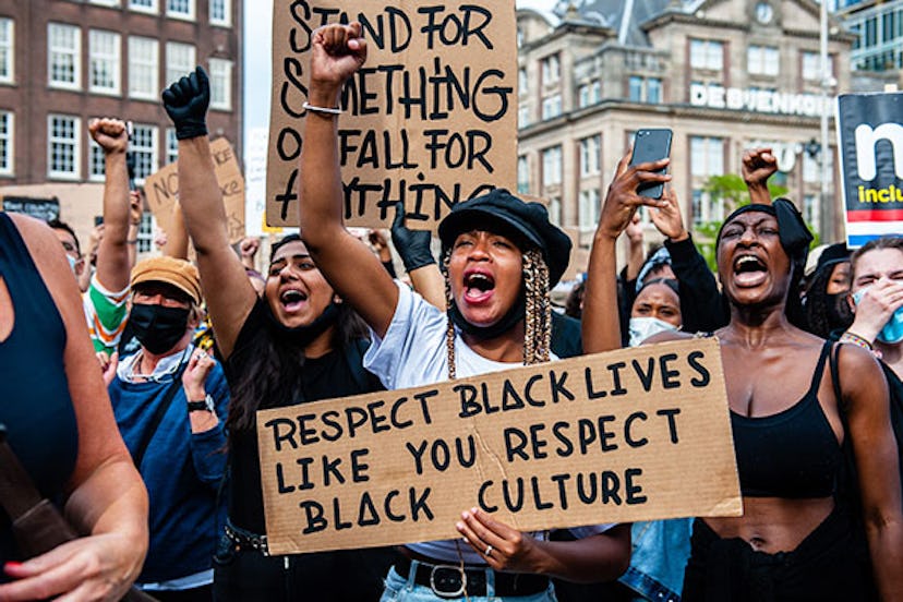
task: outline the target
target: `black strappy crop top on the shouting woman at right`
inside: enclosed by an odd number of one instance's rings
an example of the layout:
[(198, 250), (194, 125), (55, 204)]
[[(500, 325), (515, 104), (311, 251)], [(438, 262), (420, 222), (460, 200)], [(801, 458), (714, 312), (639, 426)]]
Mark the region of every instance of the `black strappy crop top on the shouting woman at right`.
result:
[(748, 497), (828, 497), (843, 459), (838, 437), (818, 401), (826, 341), (803, 399), (775, 414), (748, 418), (731, 412), (741, 492)]

